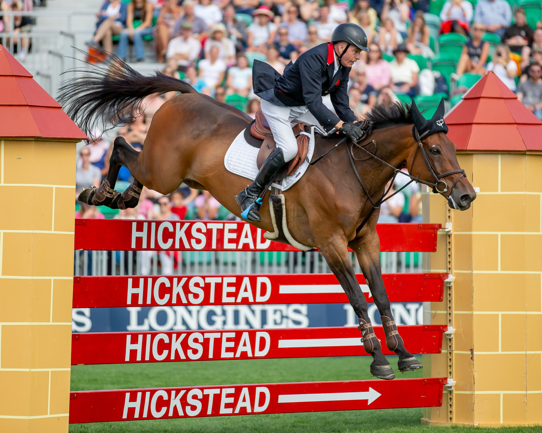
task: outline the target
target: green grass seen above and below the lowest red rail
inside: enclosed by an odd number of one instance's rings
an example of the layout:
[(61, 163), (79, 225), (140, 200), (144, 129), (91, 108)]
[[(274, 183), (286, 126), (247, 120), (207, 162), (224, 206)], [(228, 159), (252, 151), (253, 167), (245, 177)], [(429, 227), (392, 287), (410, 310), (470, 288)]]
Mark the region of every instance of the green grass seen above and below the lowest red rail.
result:
[[(399, 373), (397, 357), (388, 357), (397, 378), (421, 377)], [(370, 357), (201, 361), (130, 365), (72, 366), (72, 391), (159, 388), (166, 386), (242, 383), (315, 382), (370, 379)], [(401, 396), (397, 396), (401, 398)], [(420, 424), (422, 409), (386, 409), (310, 414), (244, 415), (164, 419), (117, 423), (72, 424), (70, 433), (308, 433), (378, 432), (454, 433), (448, 427)], [(494, 429), (453, 428), (461, 433)], [(499, 433), (534, 433), (540, 428), (501, 428)], [(459, 433), (459, 432), (455, 432)]]

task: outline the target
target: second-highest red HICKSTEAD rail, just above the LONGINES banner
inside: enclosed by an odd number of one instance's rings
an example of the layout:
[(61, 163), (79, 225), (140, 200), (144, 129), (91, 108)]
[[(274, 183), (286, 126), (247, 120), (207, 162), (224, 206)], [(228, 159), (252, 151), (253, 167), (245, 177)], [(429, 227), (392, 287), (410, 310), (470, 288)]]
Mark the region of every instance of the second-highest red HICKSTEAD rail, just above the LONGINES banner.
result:
[[(356, 275), (367, 302), (372, 294)], [(383, 274), (391, 302), (442, 301), (446, 273)], [(339, 304), (348, 298), (333, 274), (124, 275), (74, 277), (73, 308), (159, 305)]]

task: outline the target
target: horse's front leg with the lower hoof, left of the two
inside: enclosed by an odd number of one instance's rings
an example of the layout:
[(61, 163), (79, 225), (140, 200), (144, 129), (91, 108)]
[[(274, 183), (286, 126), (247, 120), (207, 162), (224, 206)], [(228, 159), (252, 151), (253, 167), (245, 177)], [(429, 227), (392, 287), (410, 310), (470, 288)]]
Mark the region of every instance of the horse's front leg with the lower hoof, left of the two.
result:
[(324, 255), (328, 266), (339, 280), (341, 287), (346, 292), (350, 305), (356, 312), (359, 320), (359, 330), (362, 331), (363, 347), (373, 357), (370, 371), (380, 379), (393, 379), (393, 369), (380, 350), (380, 342), (372, 329), (369, 314), (367, 314), (367, 301), (356, 279), (356, 273), (352, 267), (350, 255), (346, 248), (347, 240), (344, 235), (326, 238), (319, 241), (315, 239), (318, 250)]

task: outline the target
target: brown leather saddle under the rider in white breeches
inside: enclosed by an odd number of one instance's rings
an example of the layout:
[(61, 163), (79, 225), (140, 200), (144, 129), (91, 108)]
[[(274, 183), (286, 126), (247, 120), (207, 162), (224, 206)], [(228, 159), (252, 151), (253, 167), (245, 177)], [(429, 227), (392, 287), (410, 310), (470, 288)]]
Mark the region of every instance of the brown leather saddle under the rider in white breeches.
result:
[[(286, 178), (286, 176), (294, 174), (295, 170), (297, 170), (305, 158), (307, 158), (308, 136), (301, 134), (301, 132), (305, 132), (305, 127), (307, 126), (309, 126), (308, 123), (296, 123), (292, 127), (292, 131), (298, 141), (298, 153), (293, 160), (287, 162), (285, 167), (277, 173), (276, 180), (282, 180)], [(271, 128), (269, 128), (266, 117), (261, 111), (257, 111), (256, 119), (250, 124), (250, 127), (245, 130), (244, 137), (251, 146), (260, 148), (260, 152), (256, 159), (256, 166), (260, 169), (269, 154), (276, 149), (273, 133), (271, 132)]]

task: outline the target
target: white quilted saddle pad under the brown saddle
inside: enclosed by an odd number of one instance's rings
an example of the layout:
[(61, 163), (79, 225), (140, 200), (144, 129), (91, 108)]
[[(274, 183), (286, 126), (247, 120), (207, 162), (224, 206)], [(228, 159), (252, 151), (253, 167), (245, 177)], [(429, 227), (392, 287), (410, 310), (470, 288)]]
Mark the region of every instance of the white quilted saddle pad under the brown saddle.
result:
[[(308, 161), (312, 159), (312, 154), (314, 152), (314, 130), (315, 126), (311, 127), (311, 134), (309, 135), (308, 141), (308, 153), (305, 161), (301, 163), (295, 173), (291, 176), (286, 176), (282, 179), (281, 184), (273, 183), (273, 186), (276, 188), (286, 191), (289, 187), (294, 185), (301, 176), (306, 172), (308, 168)], [(258, 156), (260, 149), (254, 146), (250, 146), (247, 143), (247, 140), (244, 139), (244, 129), (235, 137), (233, 143), (231, 143), (228, 152), (224, 156), (224, 166), (226, 169), (231, 172), (243, 176), (250, 180), (256, 178), (258, 174), (258, 168), (256, 167), (256, 158)]]

